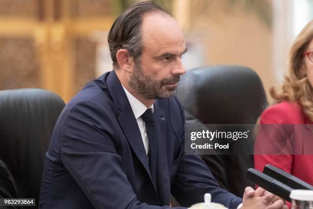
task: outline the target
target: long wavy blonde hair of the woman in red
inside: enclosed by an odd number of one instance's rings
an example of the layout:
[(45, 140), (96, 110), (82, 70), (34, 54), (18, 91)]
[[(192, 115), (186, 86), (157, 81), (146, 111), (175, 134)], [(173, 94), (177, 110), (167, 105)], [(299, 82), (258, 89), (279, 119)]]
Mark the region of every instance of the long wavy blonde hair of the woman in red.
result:
[(313, 20), (297, 36), (289, 51), (288, 72), (284, 76), (281, 90), (272, 87), (271, 96), (276, 100), (298, 102), (304, 115), (313, 121), (313, 88), (305, 75), (303, 52), (313, 39)]

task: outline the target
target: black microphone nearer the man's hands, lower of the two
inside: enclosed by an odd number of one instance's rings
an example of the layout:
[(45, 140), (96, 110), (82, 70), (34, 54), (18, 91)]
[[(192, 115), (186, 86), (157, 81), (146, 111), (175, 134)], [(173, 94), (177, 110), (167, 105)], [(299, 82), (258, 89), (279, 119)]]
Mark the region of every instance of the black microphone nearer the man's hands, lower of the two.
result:
[(255, 169), (248, 169), (245, 178), (252, 183), (259, 185), (264, 190), (267, 190), (289, 202), (291, 201), (289, 195), (293, 190), (292, 187), (287, 186), (286, 184), (272, 178), (271, 176), (263, 174), (262, 172), (259, 172)]

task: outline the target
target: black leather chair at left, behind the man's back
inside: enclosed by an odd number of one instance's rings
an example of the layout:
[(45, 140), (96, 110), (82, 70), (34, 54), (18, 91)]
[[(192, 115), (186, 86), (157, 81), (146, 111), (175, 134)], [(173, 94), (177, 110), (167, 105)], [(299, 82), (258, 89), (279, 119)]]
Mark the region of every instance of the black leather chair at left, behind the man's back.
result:
[[(44, 155), (64, 105), (58, 95), (47, 90), (0, 91), (0, 159), (16, 182), (18, 197), (36, 198), (36, 205)], [(4, 178), (8, 176), (0, 176)], [(4, 191), (14, 191), (12, 183), (0, 186), (11, 187), (2, 188)], [(14, 195), (11, 197), (17, 198)]]

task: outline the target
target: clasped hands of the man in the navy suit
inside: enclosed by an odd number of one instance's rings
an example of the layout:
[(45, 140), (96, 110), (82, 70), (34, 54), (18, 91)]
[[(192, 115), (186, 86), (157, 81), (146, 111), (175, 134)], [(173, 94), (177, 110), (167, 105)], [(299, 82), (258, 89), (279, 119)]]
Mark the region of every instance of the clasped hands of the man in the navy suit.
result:
[(244, 190), (243, 204), (241, 209), (248, 208), (266, 208), (266, 209), (288, 209), (285, 202), (274, 194), (265, 191), (261, 187), (257, 190), (248, 186)]

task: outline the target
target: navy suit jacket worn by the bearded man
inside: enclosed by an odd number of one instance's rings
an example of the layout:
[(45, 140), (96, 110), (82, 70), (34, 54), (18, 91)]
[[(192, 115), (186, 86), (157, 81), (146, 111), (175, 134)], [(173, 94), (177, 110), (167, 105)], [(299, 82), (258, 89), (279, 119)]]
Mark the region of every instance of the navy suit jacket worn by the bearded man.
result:
[(236, 208), (241, 198), (220, 189), (202, 159), (184, 155), (185, 118), (177, 98), (155, 101), (153, 114), (158, 141), (157, 149), (150, 150), (157, 168), (151, 174), (138, 123), (115, 71), (87, 83), (55, 125), (40, 208), (169, 208), (170, 194), (190, 206), (203, 202), (205, 193)]

